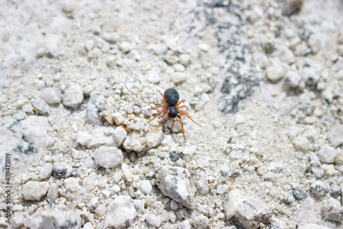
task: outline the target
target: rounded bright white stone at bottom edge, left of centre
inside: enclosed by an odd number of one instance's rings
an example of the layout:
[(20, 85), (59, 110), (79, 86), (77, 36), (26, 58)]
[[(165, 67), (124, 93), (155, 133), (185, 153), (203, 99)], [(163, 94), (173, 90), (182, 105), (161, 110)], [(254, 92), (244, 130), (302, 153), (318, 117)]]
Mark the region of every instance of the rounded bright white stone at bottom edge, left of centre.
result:
[(128, 228), (137, 217), (131, 198), (126, 195), (119, 195), (108, 206), (106, 221), (114, 228)]

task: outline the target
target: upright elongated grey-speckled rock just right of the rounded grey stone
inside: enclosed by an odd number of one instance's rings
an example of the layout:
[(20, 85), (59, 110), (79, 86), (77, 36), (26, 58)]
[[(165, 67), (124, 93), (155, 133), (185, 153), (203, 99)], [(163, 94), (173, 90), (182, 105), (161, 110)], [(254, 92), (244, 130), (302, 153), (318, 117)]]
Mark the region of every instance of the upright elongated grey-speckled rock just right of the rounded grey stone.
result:
[(87, 119), (90, 124), (102, 124), (101, 117), (99, 116), (99, 110), (104, 109), (105, 104), (105, 98), (102, 93), (100, 91), (92, 91), (91, 98), (87, 105)]

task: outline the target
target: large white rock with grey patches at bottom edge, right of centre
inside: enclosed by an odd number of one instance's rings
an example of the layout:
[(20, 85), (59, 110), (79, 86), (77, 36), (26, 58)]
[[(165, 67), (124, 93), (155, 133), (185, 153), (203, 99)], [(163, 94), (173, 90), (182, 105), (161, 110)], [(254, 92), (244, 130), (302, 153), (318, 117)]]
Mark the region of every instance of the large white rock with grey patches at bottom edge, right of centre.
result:
[(247, 229), (258, 228), (259, 223), (267, 223), (271, 216), (271, 210), (263, 202), (246, 195), (237, 188), (226, 194), (224, 211), (226, 219), (233, 218), (239, 225)]

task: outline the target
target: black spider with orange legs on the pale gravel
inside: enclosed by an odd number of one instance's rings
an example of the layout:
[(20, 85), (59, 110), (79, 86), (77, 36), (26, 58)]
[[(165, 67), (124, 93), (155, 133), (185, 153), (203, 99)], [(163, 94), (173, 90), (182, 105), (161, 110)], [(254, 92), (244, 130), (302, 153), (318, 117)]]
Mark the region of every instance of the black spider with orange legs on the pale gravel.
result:
[[(178, 94), (178, 91), (176, 91), (176, 89), (173, 88), (169, 88), (167, 90), (165, 90), (165, 94), (163, 96), (163, 94), (161, 93), (161, 91), (158, 91), (161, 96), (163, 97), (163, 100), (165, 101), (165, 105), (161, 105), (161, 106), (157, 106), (154, 107), (152, 109), (156, 109), (158, 107), (163, 107), (164, 110), (160, 111), (160, 113), (158, 113), (157, 116), (155, 116), (154, 118), (152, 118), (152, 120), (154, 120), (155, 118), (157, 118), (158, 116), (161, 115), (161, 113), (165, 113), (165, 116), (163, 116), (163, 119), (160, 121), (160, 123), (165, 120), (165, 118), (167, 118), (167, 120), (169, 120), (169, 118), (175, 118), (178, 117), (181, 123), (181, 128), (182, 128), (182, 133), (183, 133), (183, 138), (185, 138), (185, 131), (183, 130), (183, 121), (182, 118), (180, 117), (180, 114), (187, 116), (190, 120), (192, 120), (194, 123), (198, 124), (196, 121), (194, 121), (193, 119), (191, 119), (191, 117), (188, 116), (187, 113), (183, 112), (183, 111), (178, 111), (178, 109), (182, 108), (182, 107), (186, 107), (187, 106), (180, 106), (181, 102), (185, 102), (186, 100), (181, 100), (180, 102), (178, 102), (178, 100), (180, 99), (180, 95)], [(151, 122), (152, 120), (150, 120), (149, 122)], [(147, 123), (149, 123), (147, 122)], [(200, 124), (198, 124), (199, 127)]]

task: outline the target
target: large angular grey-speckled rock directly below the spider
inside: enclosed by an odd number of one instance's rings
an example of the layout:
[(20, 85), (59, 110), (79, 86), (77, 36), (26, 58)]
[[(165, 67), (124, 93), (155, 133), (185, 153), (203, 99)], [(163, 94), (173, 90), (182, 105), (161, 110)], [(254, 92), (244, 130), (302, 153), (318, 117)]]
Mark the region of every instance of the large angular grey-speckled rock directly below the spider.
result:
[(187, 169), (164, 166), (156, 174), (156, 182), (164, 195), (187, 208), (193, 208), (196, 187)]

